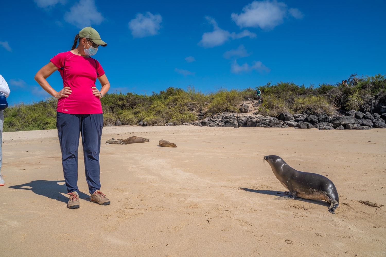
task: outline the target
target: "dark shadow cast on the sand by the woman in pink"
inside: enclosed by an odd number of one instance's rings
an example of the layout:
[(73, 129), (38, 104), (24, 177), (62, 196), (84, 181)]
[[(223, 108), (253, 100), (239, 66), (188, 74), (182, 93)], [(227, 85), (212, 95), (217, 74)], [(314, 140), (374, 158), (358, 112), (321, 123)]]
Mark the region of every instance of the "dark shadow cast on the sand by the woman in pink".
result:
[[(59, 183), (63, 183), (63, 185), (59, 185)], [(34, 180), (22, 185), (9, 186), (9, 188), (30, 190), (37, 195), (42, 195), (63, 203), (68, 202), (68, 197), (64, 197), (60, 194), (67, 194), (67, 188), (64, 180)], [(78, 192), (78, 194), (80, 199), (90, 200), (90, 195), (86, 195), (82, 192)]]

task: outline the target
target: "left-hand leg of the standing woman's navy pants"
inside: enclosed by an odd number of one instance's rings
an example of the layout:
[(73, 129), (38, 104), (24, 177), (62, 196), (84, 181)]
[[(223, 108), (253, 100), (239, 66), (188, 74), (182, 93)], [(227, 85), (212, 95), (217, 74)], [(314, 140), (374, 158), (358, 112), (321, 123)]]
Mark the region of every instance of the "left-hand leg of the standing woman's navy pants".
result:
[(60, 149), (64, 180), (68, 193), (78, 189), (78, 147), (80, 135), (80, 114), (56, 113), (56, 128)]

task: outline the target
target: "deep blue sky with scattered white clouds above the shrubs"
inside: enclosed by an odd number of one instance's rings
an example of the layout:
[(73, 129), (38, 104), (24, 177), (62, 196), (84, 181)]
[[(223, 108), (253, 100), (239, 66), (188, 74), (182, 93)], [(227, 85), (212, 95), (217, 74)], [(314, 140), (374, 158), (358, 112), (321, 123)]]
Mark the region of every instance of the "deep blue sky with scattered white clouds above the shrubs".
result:
[[(386, 1), (3, 1), (0, 74), (10, 104), (49, 94), (34, 75), (86, 26), (109, 92), (202, 92), (386, 72)], [(48, 78), (59, 91), (59, 72)], [(100, 84), (97, 82), (97, 86)]]

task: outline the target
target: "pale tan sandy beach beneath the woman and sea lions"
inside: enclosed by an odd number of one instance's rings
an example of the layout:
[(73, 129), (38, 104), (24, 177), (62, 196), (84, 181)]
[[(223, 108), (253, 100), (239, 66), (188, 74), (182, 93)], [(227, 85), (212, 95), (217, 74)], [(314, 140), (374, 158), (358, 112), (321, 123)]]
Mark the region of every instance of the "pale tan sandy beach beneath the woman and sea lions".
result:
[[(105, 144), (132, 135), (150, 141)], [(386, 129), (104, 127), (111, 204), (90, 202), (80, 144), (74, 210), (56, 130), (3, 133), (2, 149), (4, 257), (386, 256)], [(322, 200), (280, 198), (265, 155), (332, 180), (336, 214)]]

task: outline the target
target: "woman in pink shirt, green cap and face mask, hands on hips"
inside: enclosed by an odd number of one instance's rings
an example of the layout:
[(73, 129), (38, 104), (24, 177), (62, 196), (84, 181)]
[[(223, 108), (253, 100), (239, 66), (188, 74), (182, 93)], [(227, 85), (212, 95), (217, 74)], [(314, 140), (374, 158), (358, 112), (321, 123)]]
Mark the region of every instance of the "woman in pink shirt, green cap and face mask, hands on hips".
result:
[[(76, 46), (79, 42), (78, 46)], [(93, 59), (98, 47), (107, 44), (98, 32), (86, 27), (75, 36), (71, 51), (59, 53), (35, 75), (35, 80), (51, 96), (58, 99), (56, 127), (62, 151), (62, 166), (69, 201), (67, 207), (79, 208), (78, 146), (82, 136), (85, 173), (91, 202), (109, 205), (110, 200), (100, 191), (99, 152), (103, 127), (100, 99), (107, 93), (110, 83), (99, 62)], [(55, 71), (63, 78), (63, 89), (57, 92), (47, 82)], [(99, 80), (102, 88), (95, 86)]]

